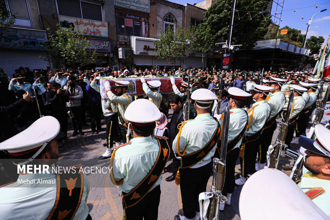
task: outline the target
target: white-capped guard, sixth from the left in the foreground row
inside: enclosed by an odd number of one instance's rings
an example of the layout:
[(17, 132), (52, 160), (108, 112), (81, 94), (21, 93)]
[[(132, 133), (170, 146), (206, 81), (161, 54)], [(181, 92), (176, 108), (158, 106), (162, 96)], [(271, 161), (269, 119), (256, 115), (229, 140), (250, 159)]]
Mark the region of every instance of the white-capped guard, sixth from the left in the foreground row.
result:
[[(285, 114), (290, 114), (289, 124), (288, 124), (288, 131), (286, 133), (285, 141), (284, 143), (290, 148), (290, 143), (293, 138), (293, 132), (296, 128), (297, 119), (299, 117), (300, 112), (305, 108), (306, 102), (302, 96), (304, 92), (307, 91), (304, 87), (298, 86), (298, 85), (292, 85), (293, 91), (294, 91), (294, 98), (292, 103), (292, 109), (291, 112), (288, 113), (286, 111), (283, 112), (283, 120), (285, 119)], [(286, 98), (285, 105), (283, 109), (287, 108), (287, 104), (289, 102), (289, 98)], [(284, 151), (282, 151), (284, 153)], [(281, 152), (281, 155), (283, 155)]]

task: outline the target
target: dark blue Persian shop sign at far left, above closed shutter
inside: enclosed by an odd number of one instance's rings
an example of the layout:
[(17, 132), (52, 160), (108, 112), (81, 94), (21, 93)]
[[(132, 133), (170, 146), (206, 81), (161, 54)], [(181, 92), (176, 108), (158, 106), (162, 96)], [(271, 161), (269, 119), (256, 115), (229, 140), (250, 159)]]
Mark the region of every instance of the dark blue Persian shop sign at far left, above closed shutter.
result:
[(0, 48), (41, 50), (43, 41), (47, 41), (46, 31), (0, 28)]

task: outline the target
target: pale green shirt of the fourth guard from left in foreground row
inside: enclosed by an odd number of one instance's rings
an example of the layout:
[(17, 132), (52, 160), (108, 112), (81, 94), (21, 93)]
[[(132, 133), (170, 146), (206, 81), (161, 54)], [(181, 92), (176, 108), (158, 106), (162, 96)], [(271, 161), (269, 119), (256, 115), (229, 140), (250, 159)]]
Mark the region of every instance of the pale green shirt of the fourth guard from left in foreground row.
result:
[[(254, 108), (254, 110), (252, 109)], [(250, 136), (262, 129), (270, 115), (271, 108), (266, 100), (256, 102), (248, 111), (248, 125), (245, 134)], [(253, 113), (252, 119), (250, 117)]]

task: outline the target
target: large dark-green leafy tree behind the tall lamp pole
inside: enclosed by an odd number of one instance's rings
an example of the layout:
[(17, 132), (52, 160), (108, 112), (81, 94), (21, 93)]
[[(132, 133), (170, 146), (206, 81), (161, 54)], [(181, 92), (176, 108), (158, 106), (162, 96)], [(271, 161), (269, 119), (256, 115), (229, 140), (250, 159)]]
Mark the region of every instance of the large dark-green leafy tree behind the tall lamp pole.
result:
[[(246, 15), (239, 20), (237, 13), (234, 14), (232, 44), (243, 44), (240, 48), (244, 50), (252, 49), (255, 42), (267, 33), (271, 23), (270, 18), (268, 18), (269, 13), (266, 11), (268, 3), (269, 0), (241, 0), (236, 3), (235, 10), (250, 11), (251, 17), (256, 16), (250, 20), (250, 16)], [(204, 31), (203, 34), (212, 34), (217, 40), (227, 39), (231, 11), (232, 0), (213, 3), (205, 12), (204, 19), (204, 23), (210, 27), (210, 31)], [(263, 11), (262, 14), (257, 13), (261, 11)], [(240, 13), (240, 16), (243, 16), (244, 12)]]

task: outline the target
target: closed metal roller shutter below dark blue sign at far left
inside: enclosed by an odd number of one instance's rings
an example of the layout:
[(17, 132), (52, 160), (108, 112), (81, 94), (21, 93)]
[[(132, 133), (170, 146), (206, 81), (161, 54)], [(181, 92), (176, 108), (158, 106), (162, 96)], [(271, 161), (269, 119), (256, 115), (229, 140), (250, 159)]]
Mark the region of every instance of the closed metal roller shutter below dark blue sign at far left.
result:
[(20, 66), (29, 67), (31, 71), (45, 69), (50, 66), (49, 61), (39, 58), (40, 55), (40, 51), (33, 50), (0, 50), (0, 68), (9, 76), (13, 76)]

